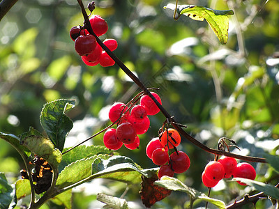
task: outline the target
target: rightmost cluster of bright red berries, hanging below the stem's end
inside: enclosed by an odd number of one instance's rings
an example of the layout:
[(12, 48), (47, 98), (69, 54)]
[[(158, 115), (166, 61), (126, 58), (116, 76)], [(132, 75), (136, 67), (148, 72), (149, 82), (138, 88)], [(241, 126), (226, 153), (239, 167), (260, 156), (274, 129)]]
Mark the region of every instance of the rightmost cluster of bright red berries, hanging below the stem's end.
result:
[[(202, 183), (206, 187), (215, 187), (219, 180), (230, 178), (231, 176), (254, 180), (256, 178), (256, 171), (247, 162), (238, 164), (234, 157), (222, 156), (218, 161), (211, 161), (206, 164), (204, 172), (202, 172)], [(239, 181), (237, 183), (246, 185)]]

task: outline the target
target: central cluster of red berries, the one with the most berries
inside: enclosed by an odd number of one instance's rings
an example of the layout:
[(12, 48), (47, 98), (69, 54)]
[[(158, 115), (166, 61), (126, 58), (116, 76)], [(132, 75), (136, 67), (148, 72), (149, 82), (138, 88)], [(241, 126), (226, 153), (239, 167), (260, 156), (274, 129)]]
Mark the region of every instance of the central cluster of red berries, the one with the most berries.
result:
[[(157, 93), (151, 94), (162, 104)], [(104, 144), (111, 150), (118, 150), (124, 144), (126, 148), (134, 150), (140, 146), (140, 138), (137, 135), (144, 134), (149, 129), (148, 116), (158, 114), (160, 109), (148, 96), (142, 95), (140, 104), (128, 105), (115, 102), (110, 107), (109, 118), (117, 127), (108, 129), (103, 137)]]

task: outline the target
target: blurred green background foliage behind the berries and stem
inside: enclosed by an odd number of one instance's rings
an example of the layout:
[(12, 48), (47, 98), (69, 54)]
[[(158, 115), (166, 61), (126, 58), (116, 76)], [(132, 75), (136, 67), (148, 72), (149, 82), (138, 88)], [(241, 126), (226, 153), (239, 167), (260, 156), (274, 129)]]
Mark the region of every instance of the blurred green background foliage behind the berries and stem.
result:
[[(84, 1), (86, 5), (89, 1)], [(226, 3), (227, 2), (227, 3)], [(279, 136), (279, 3), (278, 1), (188, 1), (219, 10), (234, 10), (229, 17), (229, 39), (220, 45), (206, 22), (188, 17), (178, 21), (164, 10), (169, 1), (96, 1), (94, 14), (107, 20), (109, 31), (101, 37), (119, 42), (116, 56), (135, 72), (147, 87), (160, 87), (163, 106), (187, 131), (211, 148), (220, 137), (234, 139), (241, 152), (263, 157), (278, 155)], [(65, 98), (76, 100), (67, 112), (74, 127), (68, 137), (71, 146), (110, 123), (107, 107), (128, 102), (140, 90), (117, 65), (103, 68), (84, 65), (68, 35), (82, 24), (75, 0), (22, 0), (0, 22), (0, 131), (18, 135), (29, 126), (42, 131), (40, 110), (45, 102)], [(145, 146), (156, 137), (165, 121), (162, 114), (151, 116), (151, 127), (140, 136), (138, 150), (121, 148), (143, 168), (155, 167), (145, 155)], [(102, 136), (91, 141), (102, 145)], [(66, 139), (67, 144), (67, 139)], [(206, 192), (201, 183), (205, 164), (213, 156), (184, 140), (179, 150), (192, 159), (190, 169), (176, 176), (183, 183)], [(202, 153), (202, 154), (201, 154)], [(15, 180), (24, 166), (15, 150), (0, 141), (0, 171)], [(264, 164), (252, 164), (256, 180), (276, 185), (278, 173)], [(98, 208), (97, 192), (121, 196), (142, 208), (140, 185), (114, 181), (74, 190), (73, 208)], [(213, 189), (211, 196), (234, 201), (252, 192), (236, 183)], [(89, 189), (96, 187), (95, 189)], [(77, 192), (78, 191), (78, 192)], [(82, 200), (82, 201), (81, 201)], [(28, 199), (24, 200), (27, 201)], [(154, 208), (183, 208), (188, 196), (173, 192)], [(56, 200), (59, 203), (59, 200)], [(187, 205), (187, 203), (186, 203)], [(195, 207), (204, 206), (196, 203)], [(270, 201), (257, 207), (268, 208)], [(44, 208), (59, 208), (48, 203)], [(252, 208), (248, 205), (247, 208)]]

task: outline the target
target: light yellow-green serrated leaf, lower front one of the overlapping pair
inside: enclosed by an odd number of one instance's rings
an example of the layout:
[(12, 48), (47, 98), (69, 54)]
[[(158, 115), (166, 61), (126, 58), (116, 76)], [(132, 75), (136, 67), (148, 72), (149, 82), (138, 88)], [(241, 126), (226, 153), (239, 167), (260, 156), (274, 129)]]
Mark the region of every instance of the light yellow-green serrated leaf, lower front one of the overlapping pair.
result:
[(63, 169), (63, 171), (61, 171), (61, 173), (59, 173), (56, 186), (59, 189), (62, 189), (78, 183), (81, 180), (84, 180), (84, 178), (88, 178), (91, 176), (91, 164), (94, 162), (94, 160), (96, 160), (96, 158), (108, 159), (109, 157), (110, 155), (94, 155), (92, 157), (77, 160), (76, 162), (69, 164), (67, 167), (65, 167), (65, 169)]

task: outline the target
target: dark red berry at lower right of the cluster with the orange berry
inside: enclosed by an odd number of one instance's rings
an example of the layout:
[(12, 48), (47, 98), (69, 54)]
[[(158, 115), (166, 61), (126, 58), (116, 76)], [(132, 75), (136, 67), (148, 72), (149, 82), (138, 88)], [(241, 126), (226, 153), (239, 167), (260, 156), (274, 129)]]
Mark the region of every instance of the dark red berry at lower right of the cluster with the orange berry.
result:
[(183, 151), (178, 151), (177, 153), (174, 152), (169, 156), (170, 163), (172, 164), (174, 173), (183, 173), (190, 167), (190, 158)]

